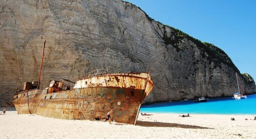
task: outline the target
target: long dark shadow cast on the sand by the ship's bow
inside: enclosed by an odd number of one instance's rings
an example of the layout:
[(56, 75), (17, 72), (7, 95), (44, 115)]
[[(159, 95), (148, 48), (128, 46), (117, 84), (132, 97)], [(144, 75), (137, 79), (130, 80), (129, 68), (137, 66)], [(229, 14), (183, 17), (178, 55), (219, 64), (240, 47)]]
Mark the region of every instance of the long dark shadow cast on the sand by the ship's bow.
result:
[(154, 126), (154, 127), (171, 127), (171, 128), (191, 128), (191, 129), (212, 129), (196, 125), (176, 124), (176, 123), (163, 123), (163, 122), (148, 122), (137, 121), (138, 126)]

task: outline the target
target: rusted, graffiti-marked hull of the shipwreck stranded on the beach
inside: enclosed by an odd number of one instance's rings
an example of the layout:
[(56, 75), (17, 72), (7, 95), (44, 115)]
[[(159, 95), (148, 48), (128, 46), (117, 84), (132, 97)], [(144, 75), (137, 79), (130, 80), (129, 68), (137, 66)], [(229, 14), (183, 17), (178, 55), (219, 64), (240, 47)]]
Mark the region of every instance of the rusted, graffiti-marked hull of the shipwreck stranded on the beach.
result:
[(153, 90), (153, 81), (149, 73), (105, 74), (79, 79), (68, 91), (51, 92), (52, 89), (17, 93), (14, 105), (18, 114), (104, 120), (114, 109), (116, 122), (135, 124), (142, 101)]

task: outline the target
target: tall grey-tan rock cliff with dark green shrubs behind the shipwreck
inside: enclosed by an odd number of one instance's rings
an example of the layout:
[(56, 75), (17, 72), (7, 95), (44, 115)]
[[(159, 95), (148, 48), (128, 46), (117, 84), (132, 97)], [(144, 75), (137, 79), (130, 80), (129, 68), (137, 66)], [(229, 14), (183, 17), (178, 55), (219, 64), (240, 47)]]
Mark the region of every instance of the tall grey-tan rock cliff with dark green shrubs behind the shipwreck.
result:
[(41, 89), (87, 72), (150, 72), (146, 102), (231, 96), (235, 72), (242, 90), (256, 92), (224, 51), (154, 21), (120, 0), (0, 0), (0, 105), (12, 104), (17, 86), (37, 81), (46, 37)]

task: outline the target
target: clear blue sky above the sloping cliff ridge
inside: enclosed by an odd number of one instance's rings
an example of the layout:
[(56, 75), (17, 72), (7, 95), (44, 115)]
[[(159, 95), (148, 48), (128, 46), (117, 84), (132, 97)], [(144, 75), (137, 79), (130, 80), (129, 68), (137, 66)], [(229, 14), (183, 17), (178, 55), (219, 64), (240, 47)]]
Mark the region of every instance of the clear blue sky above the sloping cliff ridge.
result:
[(241, 73), (256, 80), (256, 0), (126, 1), (156, 21), (221, 48)]

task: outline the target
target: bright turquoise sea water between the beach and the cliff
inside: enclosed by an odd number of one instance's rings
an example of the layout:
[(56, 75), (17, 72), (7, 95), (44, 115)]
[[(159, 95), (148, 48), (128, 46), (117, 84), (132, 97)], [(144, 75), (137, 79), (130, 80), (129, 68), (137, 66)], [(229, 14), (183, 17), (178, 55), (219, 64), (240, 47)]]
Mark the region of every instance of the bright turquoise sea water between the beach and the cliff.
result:
[(141, 106), (145, 113), (192, 113), (192, 114), (256, 114), (256, 94), (248, 95), (247, 99), (235, 100), (227, 98), (210, 98), (205, 103), (164, 102)]

